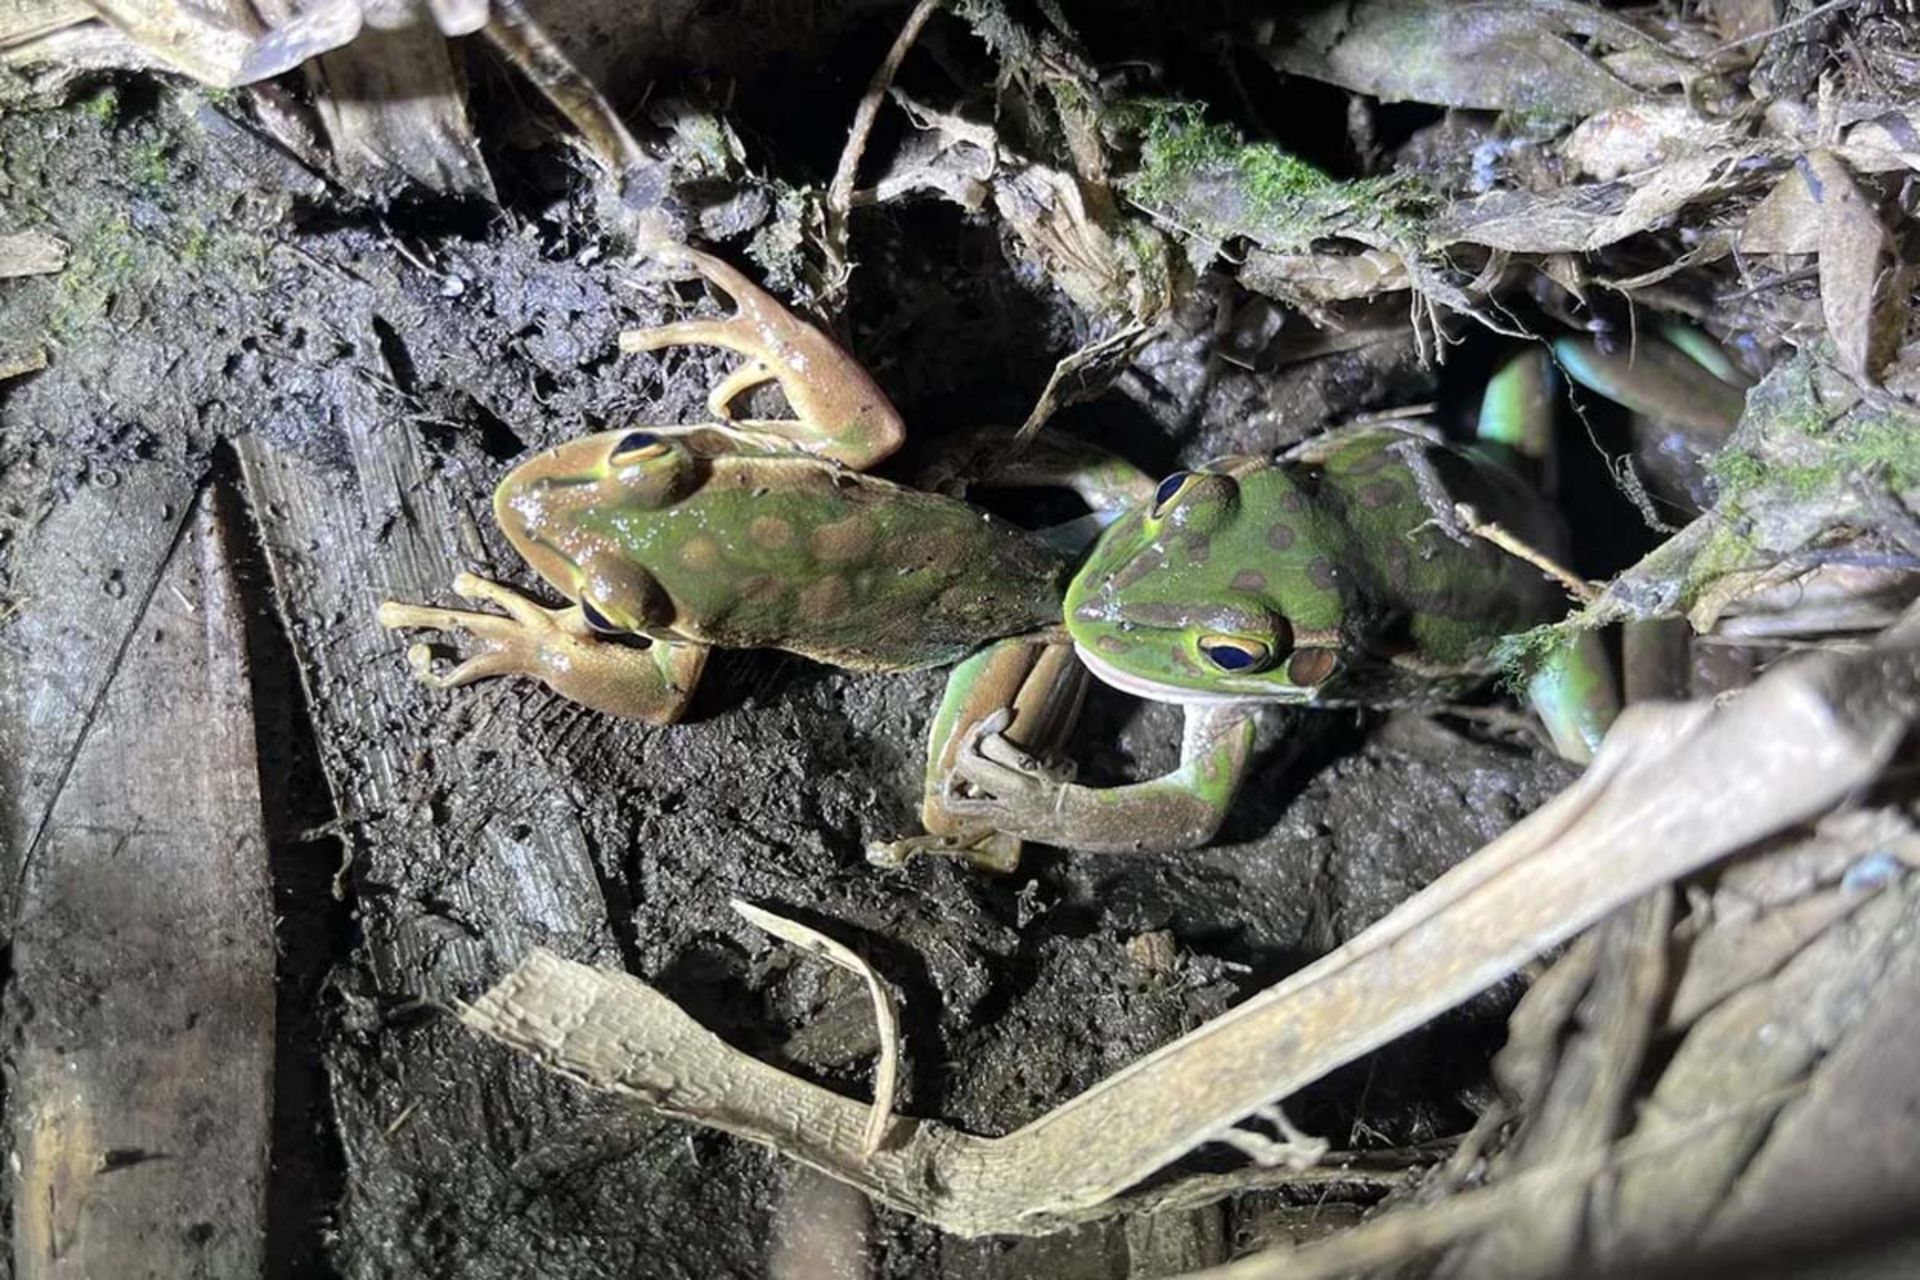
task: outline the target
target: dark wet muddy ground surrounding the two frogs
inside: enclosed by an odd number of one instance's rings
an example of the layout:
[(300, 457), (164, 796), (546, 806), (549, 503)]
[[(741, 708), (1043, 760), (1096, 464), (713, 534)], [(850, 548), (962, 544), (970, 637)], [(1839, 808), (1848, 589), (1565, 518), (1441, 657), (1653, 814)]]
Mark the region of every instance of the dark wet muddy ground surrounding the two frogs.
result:
[[(534, 165), (499, 157), (501, 175)], [(50, 349), (44, 372), (0, 384), (0, 597), (111, 629), (138, 549), (204, 486), (232, 491), (257, 547), (288, 1274), (758, 1272), (783, 1186), (770, 1153), (589, 1096), (451, 1017), (532, 944), (624, 965), (737, 1044), (864, 1096), (862, 990), (728, 900), (795, 913), (904, 992), (902, 1105), (1004, 1132), (1350, 936), (1571, 777), (1463, 723), (1277, 712), (1204, 852), (876, 871), (864, 844), (912, 829), (937, 672), (726, 654), (691, 722), (653, 729), (528, 681), (430, 693), (374, 626), (378, 599), (445, 601), (459, 568), (530, 585), (488, 520), (505, 464), (689, 420), (724, 367), (614, 355), (618, 328), (699, 297), (632, 282), (564, 184), (505, 211), (363, 211), (230, 102), (127, 86), (0, 117), (0, 178), (8, 228), (73, 246), (63, 274), (0, 286), (0, 345)], [(1066, 303), (1016, 278), (983, 223), (874, 215), (854, 246), (870, 267), (851, 342), (910, 422), (1014, 418), (1073, 345)], [(1425, 391), (1411, 351), (1261, 376), (1208, 365), (1212, 317), (1194, 319), (1066, 426), (1167, 466)], [(94, 514), (48, 516), (81, 493)], [(71, 532), (50, 545), (50, 528)], [(77, 589), (50, 595), (56, 580)], [(1169, 708), (1102, 697), (1087, 773), (1165, 768), (1177, 737)], [(27, 775), (31, 743), (8, 747), (17, 816), (46, 781)], [(1129, 952), (1152, 931), (1171, 933), (1171, 969)], [(1340, 1146), (1457, 1134), (1498, 1027), (1492, 1004), (1469, 1011), (1292, 1119)], [(1231, 1211), (1231, 1230), (1269, 1203)], [(1064, 1257), (877, 1219), (876, 1274)], [(1079, 1232), (1073, 1274), (1121, 1274), (1119, 1232)]]

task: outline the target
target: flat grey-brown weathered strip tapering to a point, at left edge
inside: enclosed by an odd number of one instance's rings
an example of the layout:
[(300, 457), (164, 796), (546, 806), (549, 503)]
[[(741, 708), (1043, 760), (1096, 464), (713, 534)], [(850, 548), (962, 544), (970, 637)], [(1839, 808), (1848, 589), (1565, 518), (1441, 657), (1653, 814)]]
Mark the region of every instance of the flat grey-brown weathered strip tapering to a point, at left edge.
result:
[[(265, 1257), (273, 912), (244, 614), (209, 501), (134, 603), (19, 877), (29, 1278), (242, 1276)], [(71, 662), (35, 658), (48, 687)]]

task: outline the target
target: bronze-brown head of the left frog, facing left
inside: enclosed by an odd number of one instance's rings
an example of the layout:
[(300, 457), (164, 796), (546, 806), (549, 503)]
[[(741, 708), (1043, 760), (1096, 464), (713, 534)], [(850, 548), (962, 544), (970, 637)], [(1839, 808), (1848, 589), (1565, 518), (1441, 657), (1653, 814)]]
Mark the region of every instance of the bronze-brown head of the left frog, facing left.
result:
[(520, 462), (493, 491), (507, 541), (599, 631), (639, 631), (657, 587), (636, 558), (643, 530), (701, 484), (685, 434), (601, 432)]

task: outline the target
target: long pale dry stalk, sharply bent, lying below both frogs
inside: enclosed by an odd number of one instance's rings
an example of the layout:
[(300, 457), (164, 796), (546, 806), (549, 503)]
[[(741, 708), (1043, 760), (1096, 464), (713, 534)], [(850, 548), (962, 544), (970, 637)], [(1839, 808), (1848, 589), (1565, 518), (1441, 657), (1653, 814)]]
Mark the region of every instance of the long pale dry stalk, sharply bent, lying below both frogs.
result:
[(636, 977), (540, 950), (463, 1017), (945, 1230), (1056, 1230), (1636, 896), (1830, 810), (1916, 714), (1920, 610), (1870, 651), (1782, 668), (1726, 706), (1632, 708), (1578, 783), (1373, 929), (1004, 1138), (900, 1117), (868, 1155), (856, 1103), (730, 1048)]

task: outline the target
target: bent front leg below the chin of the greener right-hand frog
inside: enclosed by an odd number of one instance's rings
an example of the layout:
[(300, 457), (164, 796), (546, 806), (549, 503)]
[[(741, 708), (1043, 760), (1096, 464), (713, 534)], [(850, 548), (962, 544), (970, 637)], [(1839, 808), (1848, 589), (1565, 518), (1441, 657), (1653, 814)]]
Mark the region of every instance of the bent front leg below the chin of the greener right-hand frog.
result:
[(1002, 835), (1094, 854), (1198, 848), (1213, 839), (1246, 779), (1254, 718), (1246, 706), (1188, 704), (1181, 766), (1123, 787), (1064, 781), (1008, 737), (1008, 718), (977, 727), (954, 760), (945, 808)]

